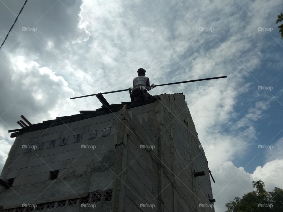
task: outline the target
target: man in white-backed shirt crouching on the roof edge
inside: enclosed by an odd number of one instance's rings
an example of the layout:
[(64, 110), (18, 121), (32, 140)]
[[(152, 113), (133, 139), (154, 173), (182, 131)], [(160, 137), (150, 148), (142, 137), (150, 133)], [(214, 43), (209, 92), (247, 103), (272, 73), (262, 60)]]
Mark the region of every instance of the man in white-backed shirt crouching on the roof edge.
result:
[(133, 80), (132, 95), (134, 98), (150, 99), (153, 96), (150, 95), (147, 90), (154, 88), (153, 84), (149, 85), (149, 78), (145, 77), (145, 70), (143, 68), (138, 69), (138, 77)]

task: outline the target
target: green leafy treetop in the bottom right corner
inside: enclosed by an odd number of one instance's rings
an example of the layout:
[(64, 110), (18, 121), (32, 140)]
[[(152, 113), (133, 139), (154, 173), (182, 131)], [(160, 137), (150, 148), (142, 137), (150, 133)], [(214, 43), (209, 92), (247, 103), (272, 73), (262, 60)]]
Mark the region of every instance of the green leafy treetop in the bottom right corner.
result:
[(283, 211), (283, 190), (275, 187), (273, 191), (264, 189), (264, 182), (253, 181), (256, 191), (245, 194), (242, 198), (226, 203), (226, 212), (279, 212)]

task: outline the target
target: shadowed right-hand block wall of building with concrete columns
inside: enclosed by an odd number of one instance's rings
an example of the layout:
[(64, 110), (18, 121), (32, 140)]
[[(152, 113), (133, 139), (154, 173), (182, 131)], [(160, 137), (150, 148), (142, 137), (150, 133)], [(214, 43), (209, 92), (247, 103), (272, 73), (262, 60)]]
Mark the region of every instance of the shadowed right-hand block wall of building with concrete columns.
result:
[[(113, 182), (111, 211), (213, 212), (207, 160), (184, 96), (160, 97), (120, 111), (116, 174), (121, 179)], [(194, 171), (205, 175), (194, 177)]]

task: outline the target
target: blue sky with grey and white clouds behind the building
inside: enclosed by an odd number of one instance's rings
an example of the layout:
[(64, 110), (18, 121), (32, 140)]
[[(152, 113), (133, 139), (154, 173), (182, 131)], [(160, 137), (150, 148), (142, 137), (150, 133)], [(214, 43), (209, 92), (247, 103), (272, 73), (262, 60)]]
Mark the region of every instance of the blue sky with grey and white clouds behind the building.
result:
[[(23, 3), (0, 1), (1, 41)], [(213, 146), (205, 153), (216, 212), (253, 180), (283, 188), (282, 10), (279, 0), (29, 0), (0, 51), (0, 169), (20, 115), (38, 123), (99, 108), (93, 97), (69, 98), (126, 89), (143, 67), (154, 84), (228, 76), (170, 86), (184, 92), (200, 142)], [(168, 87), (152, 91), (162, 93)]]

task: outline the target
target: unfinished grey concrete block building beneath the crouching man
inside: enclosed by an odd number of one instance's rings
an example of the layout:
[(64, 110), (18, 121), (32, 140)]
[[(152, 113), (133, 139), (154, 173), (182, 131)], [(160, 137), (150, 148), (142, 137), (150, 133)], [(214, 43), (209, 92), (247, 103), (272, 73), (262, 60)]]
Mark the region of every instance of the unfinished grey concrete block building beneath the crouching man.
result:
[(159, 97), (14, 130), (0, 211), (213, 212), (185, 96)]

